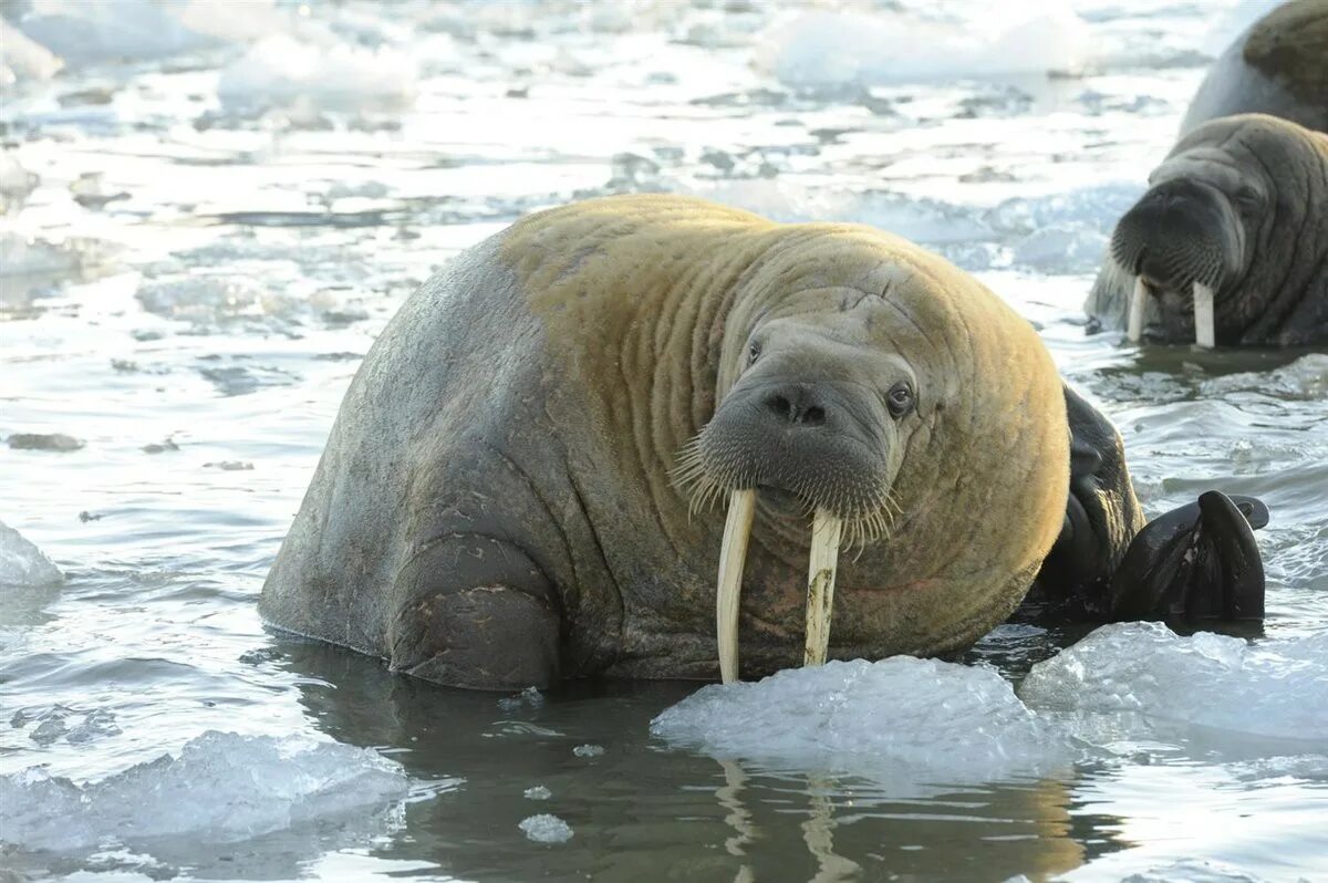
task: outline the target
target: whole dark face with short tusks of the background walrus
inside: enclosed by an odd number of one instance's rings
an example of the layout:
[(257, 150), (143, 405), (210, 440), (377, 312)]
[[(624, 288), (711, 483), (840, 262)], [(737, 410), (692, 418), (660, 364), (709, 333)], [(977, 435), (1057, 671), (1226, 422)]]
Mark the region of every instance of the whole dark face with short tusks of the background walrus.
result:
[(1195, 341), (1214, 347), (1214, 301), (1244, 276), (1267, 203), (1263, 182), (1222, 157), (1163, 163), (1112, 234), (1112, 258), (1135, 280), (1129, 339), (1142, 336), (1147, 299), (1158, 297), (1193, 312)]

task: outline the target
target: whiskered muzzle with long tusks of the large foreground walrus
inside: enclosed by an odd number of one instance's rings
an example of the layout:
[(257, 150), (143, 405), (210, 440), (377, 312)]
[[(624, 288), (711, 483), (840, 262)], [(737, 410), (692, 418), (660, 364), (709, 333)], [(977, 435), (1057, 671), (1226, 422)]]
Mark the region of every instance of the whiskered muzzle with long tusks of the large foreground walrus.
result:
[(888, 532), (884, 409), (849, 384), (744, 377), (681, 453), (675, 473), (693, 509), (728, 495), (720, 548), (716, 632), (724, 682), (738, 677), (742, 566), (757, 494), (786, 517), (811, 518), (803, 661), (821, 665), (830, 644), (841, 540), (867, 544)]

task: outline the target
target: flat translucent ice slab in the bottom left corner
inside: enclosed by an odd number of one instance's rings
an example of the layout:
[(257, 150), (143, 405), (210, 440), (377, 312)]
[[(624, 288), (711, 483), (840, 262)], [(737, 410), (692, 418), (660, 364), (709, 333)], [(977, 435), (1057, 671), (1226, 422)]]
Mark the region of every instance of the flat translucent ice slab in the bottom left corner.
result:
[(210, 730), (178, 758), (162, 756), (89, 785), (40, 767), (0, 777), (0, 837), (46, 850), (181, 834), (236, 841), (397, 801), (408, 785), (400, 765), (369, 749)]

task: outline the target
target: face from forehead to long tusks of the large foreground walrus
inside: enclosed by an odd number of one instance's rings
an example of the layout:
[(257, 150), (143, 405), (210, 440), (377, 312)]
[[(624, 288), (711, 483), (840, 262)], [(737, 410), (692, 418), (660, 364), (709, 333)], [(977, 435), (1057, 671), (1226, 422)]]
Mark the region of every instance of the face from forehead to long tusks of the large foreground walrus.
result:
[(717, 607), (726, 681), (737, 672), (737, 592), (757, 494), (777, 518), (811, 518), (809, 664), (826, 657), (841, 539), (863, 547), (890, 532), (919, 389), (888, 339), (872, 337), (875, 309), (884, 309), (879, 297), (842, 289), (781, 304), (749, 335), (737, 380), (680, 455), (675, 479), (693, 509), (729, 498)]

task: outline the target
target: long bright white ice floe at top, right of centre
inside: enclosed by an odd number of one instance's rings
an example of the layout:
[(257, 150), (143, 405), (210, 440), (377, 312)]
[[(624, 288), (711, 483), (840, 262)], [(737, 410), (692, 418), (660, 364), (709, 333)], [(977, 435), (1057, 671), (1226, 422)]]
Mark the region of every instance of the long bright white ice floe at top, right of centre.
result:
[[(1084, 21), (1064, 8), (954, 23), (908, 13), (811, 12), (765, 33), (756, 64), (797, 89), (1078, 72), (1090, 60)], [(992, 39), (992, 35), (999, 35)]]

